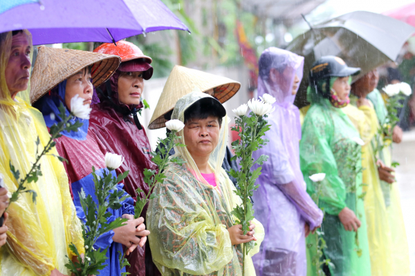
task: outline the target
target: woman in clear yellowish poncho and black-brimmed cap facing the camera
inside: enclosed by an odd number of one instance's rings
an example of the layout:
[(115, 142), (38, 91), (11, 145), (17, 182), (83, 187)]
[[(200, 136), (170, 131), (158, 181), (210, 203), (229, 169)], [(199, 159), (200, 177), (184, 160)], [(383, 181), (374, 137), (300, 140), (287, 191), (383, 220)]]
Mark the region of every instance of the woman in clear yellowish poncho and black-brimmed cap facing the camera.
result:
[[(187, 163), (167, 166), (164, 184), (154, 189), (158, 197), (149, 204), (154, 263), (164, 276), (242, 275), (241, 244), (257, 241), (249, 255), (257, 253), (264, 228), (254, 219), (243, 235), (241, 225), (234, 225), (231, 212), (239, 197), (221, 168), (228, 139), (225, 108), (208, 94), (192, 92), (177, 101), (172, 119), (185, 124), (178, 134), (186, 146), (175, 148), (175, 156)], [(246, 275), (255, 275), (250, 256)]]

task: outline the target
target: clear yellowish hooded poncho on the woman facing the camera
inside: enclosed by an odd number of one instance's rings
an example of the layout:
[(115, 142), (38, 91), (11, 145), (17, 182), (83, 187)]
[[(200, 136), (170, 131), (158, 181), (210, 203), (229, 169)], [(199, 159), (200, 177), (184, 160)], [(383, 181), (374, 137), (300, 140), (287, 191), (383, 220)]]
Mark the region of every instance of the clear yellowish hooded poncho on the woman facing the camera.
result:
[[(203, 92), (192, 92), (179, 99), (172, 119), (184, 121), (185, 110), (204, 97)], [(183, 130), (178, 132), (185, 144)], [(149, 244), (153, 260), (163, 276), (170, 275), (242, 275), (241, 245), (232, 246), (228, 228), (234, 225), (230, 214), (239, 204), (234, 185), (221, 168), (228, 140), (228, 117), (223, 117), (219, 144), (210, 155), (216, 187), (208, 184), (196, 166), (187, 148), (174, 148), (174, 156), (187, 161), (183, 166), (170, 164), (163, 185), (154, 189), (147, 210), (147, 227), (151, 232)], [(257, 246), (264, 239), (264, 228), (254, 219)], [(250, 256), (246, 257), (246, 276), (255, 275)]]

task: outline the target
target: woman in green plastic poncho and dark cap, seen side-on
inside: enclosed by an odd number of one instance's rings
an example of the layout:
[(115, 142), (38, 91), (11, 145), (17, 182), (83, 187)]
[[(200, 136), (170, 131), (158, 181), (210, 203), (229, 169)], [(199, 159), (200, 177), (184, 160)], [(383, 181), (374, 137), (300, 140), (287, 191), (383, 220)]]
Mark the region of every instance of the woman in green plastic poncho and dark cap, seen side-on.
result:
[[(358, 130), (342, 111), (349, 104), (351, 75), (360, 68), (350, 68), (339, 57), (322, 57), (313, 63), (307, 97), (311, 107), (304, 118), (299, 144), (300, 165), (307, 192), (324, 208), (322, 257), (317, 253), (315, 235), (307, 240), (313, 265), (308, 275), (317, 274), (317, 259), (329, 260), (323, 266), (326, 275), (371, 275), (365, 209), (362, 195), (361, 144)], [(314, 182), (311, 175), (323, 172), (326, 177)], [(356, 233), (353, 233), (356, 232)]]

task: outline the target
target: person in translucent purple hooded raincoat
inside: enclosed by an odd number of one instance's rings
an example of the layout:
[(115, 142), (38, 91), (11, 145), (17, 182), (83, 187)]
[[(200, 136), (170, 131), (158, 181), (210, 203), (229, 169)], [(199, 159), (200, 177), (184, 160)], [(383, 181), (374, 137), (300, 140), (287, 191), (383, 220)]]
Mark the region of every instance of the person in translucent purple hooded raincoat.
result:
[(261, 250), (252, 257), (257, 276), (305, 276), (304, 224), (313, 229), (323, 219), (322, 211), (306, 193), (299, 168), (301, 125), (292, 90), (295, 76), (302, 79), (303, 67), (304, 57), (275, 47), (266, 49), (259, 59), (258, 96), (268, 93), (277, 101), (268, 116), (271, 128), (265, 138), (269, 142), (254, 153), (255, 158), (269, 156), (253, 196), (255, 218), (265, 228)]

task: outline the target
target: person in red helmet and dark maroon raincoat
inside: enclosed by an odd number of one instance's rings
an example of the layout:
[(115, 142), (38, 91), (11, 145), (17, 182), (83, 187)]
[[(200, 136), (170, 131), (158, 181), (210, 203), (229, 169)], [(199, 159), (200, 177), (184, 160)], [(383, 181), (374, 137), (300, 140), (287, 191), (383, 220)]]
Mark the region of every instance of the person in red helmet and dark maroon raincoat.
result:
[[(107, 151), (124, 157), (120, 171), (129, 170), (124, 179), (124, 190), (136, 199), (149, 193), (149, 186), (144, 181), (144, 169), (157, 169), (151, 161), (149, 139), (137, 115), (143, 107), (144, 80), (151, 78), (153, 68), (151, 58), (133, 43), (118, 41), (116, 44), (103, 43), (94, 50), (120, 56), (121, 65), (107, 82), (97, 88), (98, 97), (93, 99), (95, 104), (92, 104), (89, 131)], [(137, 189), (143, 192), (137, 192)], [(147, 206), (140, 217), (145, 217), (146, 212)], [(139, 276), (158, 275), (149, 247), (137, 249), (128, 257), (131, 266), (127, 267), (127, 272)]]

